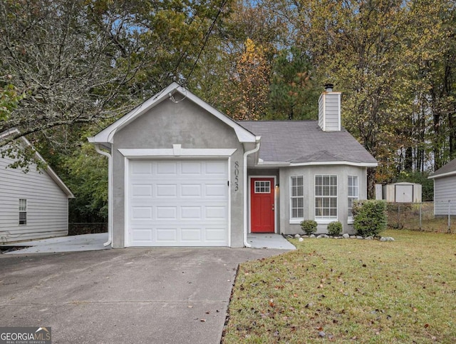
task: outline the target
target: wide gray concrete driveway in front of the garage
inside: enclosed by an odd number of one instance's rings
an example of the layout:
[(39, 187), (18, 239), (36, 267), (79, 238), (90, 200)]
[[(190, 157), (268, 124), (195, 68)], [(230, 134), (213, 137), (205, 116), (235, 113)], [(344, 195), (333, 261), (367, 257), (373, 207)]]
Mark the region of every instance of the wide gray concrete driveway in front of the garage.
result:
[(219, 343), (237, 265), (284, 253), (138, 248), (0, 256), (0, 326), (53, 343)]

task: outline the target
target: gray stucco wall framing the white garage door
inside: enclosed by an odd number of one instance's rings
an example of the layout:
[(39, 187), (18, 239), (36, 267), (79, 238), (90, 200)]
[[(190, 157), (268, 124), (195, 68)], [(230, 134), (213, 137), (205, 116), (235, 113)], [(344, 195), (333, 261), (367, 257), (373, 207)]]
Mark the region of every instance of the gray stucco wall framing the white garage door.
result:
[[(113, 247), (125, 247), (125, 157), (124, 148), (232, 148), (229, 157), (231, 246), (243, 242), (243, 154), (236, 133), (227, 124), (189, 100), (173, 103), (165, 99), (113, 138)], [(160, 157), (163, 158), (163, 157)], [(170, 156), (182, 159), (179, 156)], [(198, 157), (195, 157), (198, 158)], [(211, 157), (216, 158), (216, 157)], [(228, 157), (223, 157), (228, 159)], [(202, 159), (206, 159), (205, 157)]]

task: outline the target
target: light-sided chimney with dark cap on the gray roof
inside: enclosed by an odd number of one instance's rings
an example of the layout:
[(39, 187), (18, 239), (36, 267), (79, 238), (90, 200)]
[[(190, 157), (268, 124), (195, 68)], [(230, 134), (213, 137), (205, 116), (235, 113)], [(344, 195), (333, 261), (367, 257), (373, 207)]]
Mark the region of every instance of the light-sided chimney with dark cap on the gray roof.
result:
[(318, 99), (318, 126), (322, 131), (341, 131), (341, 92), (326, 84)]

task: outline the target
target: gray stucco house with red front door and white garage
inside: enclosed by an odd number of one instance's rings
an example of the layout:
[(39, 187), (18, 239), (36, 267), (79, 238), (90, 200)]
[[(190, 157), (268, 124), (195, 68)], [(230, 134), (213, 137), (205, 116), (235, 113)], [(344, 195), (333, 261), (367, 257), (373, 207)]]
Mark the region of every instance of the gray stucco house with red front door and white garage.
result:
[(303, 220), (351, 233), (377, 166), (329, 86), (318, 121), (237, 122), (173, 83), (89, 141), (109, 158), (114, 248), (249, 246), (247, 233), (299, 233)]

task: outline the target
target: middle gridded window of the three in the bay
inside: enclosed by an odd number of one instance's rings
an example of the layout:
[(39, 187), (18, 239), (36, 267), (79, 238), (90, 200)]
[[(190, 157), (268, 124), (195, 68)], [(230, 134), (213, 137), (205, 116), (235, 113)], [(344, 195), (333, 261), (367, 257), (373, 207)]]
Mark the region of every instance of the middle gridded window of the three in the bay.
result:
[(337, 218), (337, 176), (315, 176), (315, 218)]

